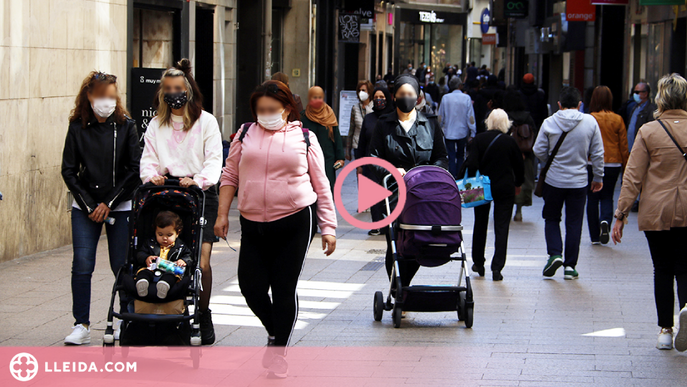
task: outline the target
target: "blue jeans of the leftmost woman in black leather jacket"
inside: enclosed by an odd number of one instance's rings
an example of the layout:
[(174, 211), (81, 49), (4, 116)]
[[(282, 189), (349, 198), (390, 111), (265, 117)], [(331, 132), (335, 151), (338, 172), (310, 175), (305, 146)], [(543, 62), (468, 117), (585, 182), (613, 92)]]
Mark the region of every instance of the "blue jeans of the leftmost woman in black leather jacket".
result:
[[(110, 255), (110, 268), (116, 276), (117, 271), (126, 263), (129, 250), (129, 215), (131, 211), (110, 212), (115, 219), (114, 225), (105, 224), (107, 245)], [(96, 223), (88, 214), (72, 208), (72, 314), (76, 324), (90, 324), (91, 276), (95, 269), (95, 255), (103, 223)], [(125, 305), (120, 293), (120, 303)]]

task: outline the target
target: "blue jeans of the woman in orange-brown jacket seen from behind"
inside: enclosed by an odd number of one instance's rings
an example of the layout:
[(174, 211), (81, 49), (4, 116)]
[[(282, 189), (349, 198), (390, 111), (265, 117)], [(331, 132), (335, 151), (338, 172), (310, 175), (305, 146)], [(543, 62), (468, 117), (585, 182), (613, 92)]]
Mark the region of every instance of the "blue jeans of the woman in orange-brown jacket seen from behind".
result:
[[(589, 169), (589, 183), (592, 182), (592, 167)], [(604, 168), (604, 186), (599, 192), (587, 191), (587, 225), (589, 226), (589, 236), (592, 242), (598, 242), (601, 235), (600, 224), (602, 221), (613, 223), (613, 194), (615, 193), (615, 183), (620, 176), (620, 167)], [(599, 210), (601, 208), (601, 210)], [(599, 215), (600, 211), (600, 215)]]

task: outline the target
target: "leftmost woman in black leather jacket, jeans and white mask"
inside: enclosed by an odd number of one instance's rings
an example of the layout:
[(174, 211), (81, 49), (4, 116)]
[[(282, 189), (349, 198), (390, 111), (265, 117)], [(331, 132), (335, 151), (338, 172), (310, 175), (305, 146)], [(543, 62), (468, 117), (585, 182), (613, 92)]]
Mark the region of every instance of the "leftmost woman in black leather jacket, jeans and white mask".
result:
[[(141, 183), (136, 123), (127, 116), (117, 77), (92, 72), (81, 85), (62, 154), (62, 178), (72, 204), (72, 313), (65, 344), (88, 344), (91, 275), (103, 223), (112, 273), (126, 263), (131, 197)], [(127, 300), (120, 295), (121, 306)], [(115, 333), (117, 335), (117, 332)]]

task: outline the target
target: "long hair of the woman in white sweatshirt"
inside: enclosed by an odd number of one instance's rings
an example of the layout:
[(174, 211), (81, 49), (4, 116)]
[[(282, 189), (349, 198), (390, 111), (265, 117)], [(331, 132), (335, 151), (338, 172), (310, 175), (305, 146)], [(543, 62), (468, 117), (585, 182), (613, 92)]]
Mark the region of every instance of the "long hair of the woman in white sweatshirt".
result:
[(184, 118), (184, 130), (189, 130), (203, 112), (203, 94), (201, 94), (198, 84), (191, 74), (190, 60), (184, 58), (177, 62), (174, 67), (165, 70), (160, 80), (160, 87), (157, 89), (157, 95), (153, 101), (153, 107), (157, 110), (156, 117), (160, 125), (171, 125), (172, 109), (170, 109), (167, 102), (165, 102), (165, 93), (162, 90), (162, 85), (165, 82), (165, 78), (175, 77), (184, 77), (188, 102), (184, 105), (184, 113), (182, 116)]

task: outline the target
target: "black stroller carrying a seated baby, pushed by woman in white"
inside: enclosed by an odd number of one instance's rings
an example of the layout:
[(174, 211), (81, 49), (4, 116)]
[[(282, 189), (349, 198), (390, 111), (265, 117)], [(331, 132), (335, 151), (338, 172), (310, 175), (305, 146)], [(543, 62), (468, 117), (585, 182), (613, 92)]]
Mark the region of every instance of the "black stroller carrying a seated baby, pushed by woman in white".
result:
[[(129, 219), (129, 254), (127, 264), (117, 273), (112, 288), (107, 327), (103, 337), (106, 356), (114, 347), (113, 318), (122, 320), (119, 344), (124, 356), (128, 346), (190, 345), (193, 367), (200, 364), (200, 321), (197, 314), (200, 296), (200, 252), (203, 240), (205, 193), (198, 187), (182, 188), (178, 180), (168, 179), (165, 185), (142, 185), (134, 194), (133, 211)], [(174, 284), (165, 303), (155, 303), (152, 295), (141, 298), (134, 282), (135, 256), (139, 243), (154, 236), (154, 220), (160, 211), (177, 213), (184, 222), (181, 239), (191, 249), (194, 267), (186, 268), (186, 275)], [(158, 277), (159, 278), (159, 277)], [(124, 313), (114, 310), (115, 296), (119, 293), (126, 305)], [(159, 302), (159, 299), (157, 300)], [(193, 306), (193, 313), (189, 307)], [(139, 313), (136, 313), (136, 309)], [(140, 310), (144, 310), (140, 312)], [(163, 314), (164, 313), (164, 314)], [(109, 349), (108, 349), (109, 348)]]

